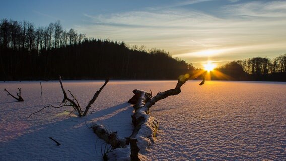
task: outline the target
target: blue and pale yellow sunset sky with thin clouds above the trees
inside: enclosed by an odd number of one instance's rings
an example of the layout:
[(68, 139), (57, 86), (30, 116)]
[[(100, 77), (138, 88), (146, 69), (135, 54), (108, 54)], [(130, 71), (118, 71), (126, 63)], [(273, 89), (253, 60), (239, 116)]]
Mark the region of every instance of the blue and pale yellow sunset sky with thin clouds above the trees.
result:
[[(3, 0), (1, 0), (3, 1)], [(1, 2), (0, 19), (163, 49), (195, 67), (286, 53), (286, 1), (160, 0)]]

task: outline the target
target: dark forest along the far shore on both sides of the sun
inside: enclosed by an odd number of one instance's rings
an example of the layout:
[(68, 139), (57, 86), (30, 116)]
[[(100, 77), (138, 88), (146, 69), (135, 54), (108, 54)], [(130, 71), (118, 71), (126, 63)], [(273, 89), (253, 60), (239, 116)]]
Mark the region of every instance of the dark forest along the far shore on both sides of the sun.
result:
[[(35, 27), (28, 21), (0, 22), (0, 80), (177, 79), (195, 69), (158, 49), (87, 38), (60, 22)], [(227, 63), (212, 79), (286, 81), (286, 54), (273, 60), (255, 57)]]

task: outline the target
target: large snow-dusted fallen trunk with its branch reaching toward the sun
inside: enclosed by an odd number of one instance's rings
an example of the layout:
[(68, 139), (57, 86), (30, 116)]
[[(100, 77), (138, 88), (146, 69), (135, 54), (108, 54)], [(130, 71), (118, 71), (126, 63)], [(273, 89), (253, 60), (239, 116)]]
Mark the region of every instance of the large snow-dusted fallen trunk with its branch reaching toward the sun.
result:
[[(119, 139), (121, 142), (115, 139), (115, 142), (117, 142), (117, 144), (121, 144), (122, 141), (125, 141), (125, 143), (123, 143), (124, 146), (130, 143), (131, 146), (128, 146), (128, 148), (130, 148), (129, 152), (131, 151), (130, 152), (131, 160), (140, 160), (140, 158), (138, 157), (139, 156), (138, 152), (139, 151), (145, 152), (145, 150), (155, 141), (155, 136), (159, 123), (156, 118), (149, 116), (150, 107), (159, 100), (165, 99), (168, 96), (178, 95), (179, 93), (181, 93), (181, 86), (184, 85), (189, 78), (190, 76), (188, 74), (180, 76), (176, 84), (176, 87), (174, 89), (170, 89), (164, 92), (159, 92), (154, 97), (152, 97), (152, 94), (146, 91), (136, 90), (136, 89), (133, 90), (134, 96), (128, 102), (131, 104), (135, 104), (133, 106), (135, 108), (135, 112), (132, 115), (132, 123), (134, 125), (134, 130), (131, 136), (129, 136), (125, 140)], [(203, 81), (199, 85), (203, 85), (204, 81), (205, 80), (203, 76)], [(94, 125), (93, 129), (95, 126), (102, 126), (102, 125)], [(109, 140), (112, 133), (108, 133), (104, 127), (98, 131), (99, 132), (95, 132), (98, 135), (98, 137), (103, 138), (107, 143), (112, 142)], [(112, 145), (112, 147), (115, 146)], [(114, 151), (110, 153), (115, 153)], [(116, 154), (110, 154), (110, 156), (111, 155), (116, 156)], [(117, 159), (119, 160), (120, 158)]]

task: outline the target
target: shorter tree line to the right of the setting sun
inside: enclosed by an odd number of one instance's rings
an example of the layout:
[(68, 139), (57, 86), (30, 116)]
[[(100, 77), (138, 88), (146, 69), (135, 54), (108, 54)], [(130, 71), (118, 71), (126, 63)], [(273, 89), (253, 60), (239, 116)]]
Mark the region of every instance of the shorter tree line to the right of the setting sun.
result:
[(254, 57), (232, 61), (216, 69), (227, 75), (220, 77), (215, 72), (213, 79), (233, 79), (249, 81), (286, 81), (286, 54), (274, 59)]

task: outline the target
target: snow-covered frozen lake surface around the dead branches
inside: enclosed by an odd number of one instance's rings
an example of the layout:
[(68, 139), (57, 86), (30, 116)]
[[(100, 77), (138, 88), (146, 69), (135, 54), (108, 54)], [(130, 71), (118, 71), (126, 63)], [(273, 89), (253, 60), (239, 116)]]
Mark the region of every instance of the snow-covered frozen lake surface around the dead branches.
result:
[[(103, 141), (87, 128), (100, 121), (119, 136), (132, 133), (133, 89), (163, 92), (177, 81), (110, 81), (87, 117), (59, 105), (59, 82), (0, 82), (0, 160), (101, 160)], [(150, 115), (159, 121), (149, 160), (286, 160), (286, 83), (188, 81), (182, 92), (157, 102)], [(82, 107), (103, 81), (63, 81)], [(24, 102), (7, 96), (22, 88)], [(85, 124), (86, 122), (86, 124)], [(52, 137), (61, 143), (56, 146)]]

